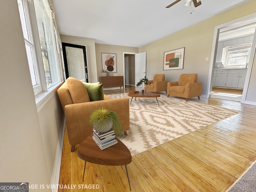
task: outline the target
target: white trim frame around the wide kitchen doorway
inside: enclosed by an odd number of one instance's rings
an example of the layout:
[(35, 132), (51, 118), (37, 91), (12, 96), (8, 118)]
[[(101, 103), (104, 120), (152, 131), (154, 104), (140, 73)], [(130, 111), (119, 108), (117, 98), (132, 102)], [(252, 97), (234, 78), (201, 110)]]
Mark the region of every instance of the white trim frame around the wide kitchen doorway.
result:
[[(214, 77), (214, 66), (215, 66), (214, 63), (216, 61), (216, 51), (217, 51), (217, 47), (218, 47), (218, 39), (219, 39), (220, 29), (226, 28), (227, 26), (229, 26), (231, 24), (235, 24), (238, 22), (243, 22), (245, 20), (255, 19), (255, 18), (256, 18), (256, 13), (250, 14), (248, 16), (245, 16), (245, 17), (242, 17), (242, 18), (239, 18), (239, 19), (236, 19), (236, 20), (233, 20), (233, 21), (230, 21), (230, 22), (218, 25), (218, 26), (215, 26), (214, 36), (213, 36), (213, 41), (212, 41), (212, 53), (211, 53), (211, 58), (210, 58), (208, 82), (207, 82), (207, 88), (206, 88), (206, 98), (209, 98), (211, 95), (212, 81), (213, 81), (213, 77)], [(250, 61), (249, 61), (248, 68), (247, 68), (241, 103), (245, 103), (246, 94), (247, 94), (247, 90), (248, 90), (248, 86), (249, 86), (250, 74), (252, 71), (252, 63), (253, 63), (253, 58), (254, 58), (254, 54), (255, 54), (255, 50), (256, 50), (256, 35), (255, 34), (256, 33), (254, 33), (254, 38), (253, 38), (253, 43), (252, 43), (252, 52), (250, 55)]]

